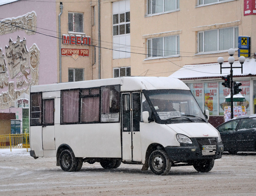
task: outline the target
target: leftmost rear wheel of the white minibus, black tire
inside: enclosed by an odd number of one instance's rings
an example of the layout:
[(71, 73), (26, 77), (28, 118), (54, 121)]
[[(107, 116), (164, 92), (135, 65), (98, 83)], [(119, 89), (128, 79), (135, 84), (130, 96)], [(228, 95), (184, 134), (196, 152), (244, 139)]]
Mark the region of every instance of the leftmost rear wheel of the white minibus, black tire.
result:
[(59, 161), (63, 171), (75, 171), (77, 168), (77, 159), (72, 150), (63, 150), (60, 153)]

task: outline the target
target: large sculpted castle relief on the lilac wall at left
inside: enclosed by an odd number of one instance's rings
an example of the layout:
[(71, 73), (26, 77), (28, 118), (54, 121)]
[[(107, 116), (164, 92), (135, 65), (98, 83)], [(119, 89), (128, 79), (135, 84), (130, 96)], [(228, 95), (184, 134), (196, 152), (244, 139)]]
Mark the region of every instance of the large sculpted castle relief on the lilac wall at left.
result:
[(31, 85), (38, 85), (40, 50), (34, 43), (28, 51), (26, 39), (20, 40), (17, 36), (15, 42), (9, 39), (5, 55), (2, 53), (0, 47), (0, 88), (4, 90), (8, 87), (0, 94), (0, 109), (6, 109), (23, 93), (29, 94)]

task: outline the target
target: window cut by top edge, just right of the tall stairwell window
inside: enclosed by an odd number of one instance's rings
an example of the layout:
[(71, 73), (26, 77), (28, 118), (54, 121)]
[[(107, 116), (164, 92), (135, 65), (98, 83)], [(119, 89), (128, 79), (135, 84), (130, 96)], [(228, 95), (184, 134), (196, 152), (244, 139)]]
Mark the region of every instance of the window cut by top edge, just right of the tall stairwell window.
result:
[(147, 0), (147, 15), (179, 9), (179, 0)]

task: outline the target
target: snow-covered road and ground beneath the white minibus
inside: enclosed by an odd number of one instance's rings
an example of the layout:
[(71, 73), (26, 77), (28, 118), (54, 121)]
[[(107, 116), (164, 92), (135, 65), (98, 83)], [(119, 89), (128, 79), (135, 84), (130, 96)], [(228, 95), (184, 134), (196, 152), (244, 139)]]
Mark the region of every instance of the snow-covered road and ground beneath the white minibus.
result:
[(141, 165), (103, 169), (84, 163), (64, 172), (56, 158), (30, 157), (26, 149), (0, 149), (0, 195), (256, 195), (256, 153), (225, 153), (208, 173), (172, 167), (169, 175), (141, 171)]

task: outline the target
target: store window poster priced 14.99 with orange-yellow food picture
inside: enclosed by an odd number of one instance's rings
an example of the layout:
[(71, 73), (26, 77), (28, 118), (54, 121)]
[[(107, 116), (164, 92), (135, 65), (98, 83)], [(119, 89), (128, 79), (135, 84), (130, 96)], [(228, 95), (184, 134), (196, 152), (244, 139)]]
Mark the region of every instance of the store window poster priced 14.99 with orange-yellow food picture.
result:
[(204, 83), (204, 104), (205, 110), (210, 115), (218, 115), (218, 82)]

